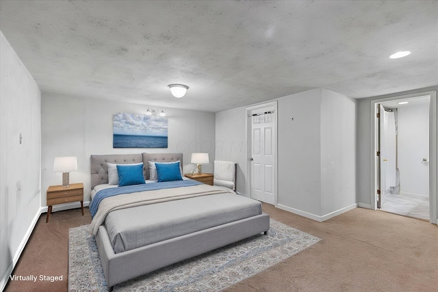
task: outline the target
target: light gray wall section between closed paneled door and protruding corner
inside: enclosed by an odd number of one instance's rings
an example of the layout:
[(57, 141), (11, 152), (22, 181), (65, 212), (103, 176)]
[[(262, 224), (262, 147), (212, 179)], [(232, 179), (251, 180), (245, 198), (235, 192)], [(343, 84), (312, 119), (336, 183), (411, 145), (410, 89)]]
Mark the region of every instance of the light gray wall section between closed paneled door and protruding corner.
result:
[(321, 214), (320, 104), (320, 89), (278, 101), (278, 205), (301, 215)]

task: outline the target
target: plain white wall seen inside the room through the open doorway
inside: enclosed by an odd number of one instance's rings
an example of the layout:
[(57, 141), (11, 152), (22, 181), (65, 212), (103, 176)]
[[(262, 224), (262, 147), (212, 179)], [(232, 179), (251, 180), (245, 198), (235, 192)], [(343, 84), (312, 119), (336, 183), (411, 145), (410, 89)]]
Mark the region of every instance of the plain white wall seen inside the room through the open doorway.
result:
[(400, 194), (429, 196), (429, 106), (398, 109)]

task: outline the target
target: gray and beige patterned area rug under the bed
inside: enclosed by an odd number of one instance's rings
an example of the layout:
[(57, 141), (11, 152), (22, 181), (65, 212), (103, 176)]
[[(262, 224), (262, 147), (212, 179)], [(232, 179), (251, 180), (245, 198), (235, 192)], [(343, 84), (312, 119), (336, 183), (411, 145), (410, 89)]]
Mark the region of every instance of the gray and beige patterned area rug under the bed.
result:
[[(268, 235), (255, 235), (117, 284), (114, 291), (221, 291), (320, 241), (270, 220)], [(70, 228), (68, 291), (108, 291), (89, 225)]]

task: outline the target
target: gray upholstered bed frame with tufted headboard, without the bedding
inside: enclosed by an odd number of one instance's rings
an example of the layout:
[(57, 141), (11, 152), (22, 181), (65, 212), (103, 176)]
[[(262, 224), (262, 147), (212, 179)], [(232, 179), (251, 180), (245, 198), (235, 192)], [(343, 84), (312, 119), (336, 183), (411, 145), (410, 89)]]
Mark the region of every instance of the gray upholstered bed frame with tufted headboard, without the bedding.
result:
[[(107, 162), (120, 164), (143, 162), (146, 165), (143, 169), (144, 177), (147, 179), (149, 178), (147, 161), (170, 162), (177, 160), (181, 161), (181, 164), (183, 163), (183, 155), (181, 153), (91, 155), (91, 186), (93, 188), (96, 185), (108, 182)], [(259, 233), (266, 234), (269, 226), (269, 215), (263, 213), (244, 220), (223, 224), (116, 254), (112, 248), (107, 230), (102, 225), (99, 227), (96, 235), (96, 242), (107, 286), (112, 291), (114, 285), (131, 278)]]

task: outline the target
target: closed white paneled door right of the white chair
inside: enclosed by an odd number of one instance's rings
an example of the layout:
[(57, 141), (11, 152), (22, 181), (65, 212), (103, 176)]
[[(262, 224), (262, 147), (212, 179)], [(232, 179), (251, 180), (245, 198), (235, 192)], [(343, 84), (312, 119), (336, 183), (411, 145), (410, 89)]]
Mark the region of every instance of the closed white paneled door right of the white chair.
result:
[(250, 112), (251, 198), (268, 204), (275, 204), (275, 114), (274, 106)]

